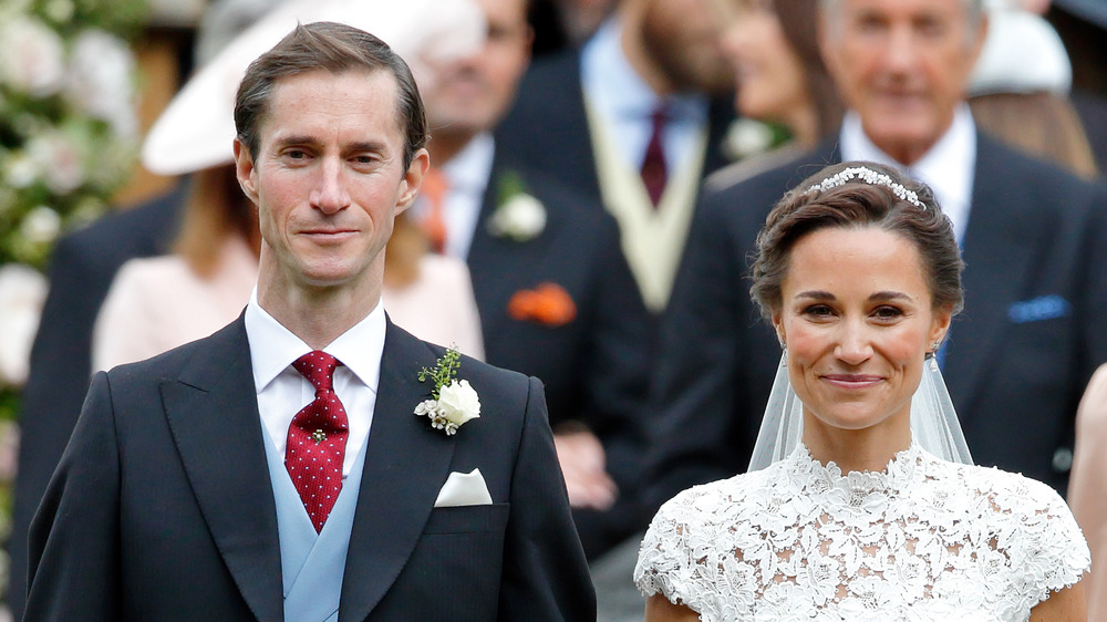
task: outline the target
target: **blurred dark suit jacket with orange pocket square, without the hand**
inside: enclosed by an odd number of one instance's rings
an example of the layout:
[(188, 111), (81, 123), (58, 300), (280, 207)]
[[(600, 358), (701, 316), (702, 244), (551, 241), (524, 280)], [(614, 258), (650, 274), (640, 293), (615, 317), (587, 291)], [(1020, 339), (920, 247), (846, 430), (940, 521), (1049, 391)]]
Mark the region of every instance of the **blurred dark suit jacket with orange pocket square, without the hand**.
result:
[[(521, 178), (546, 207), (546, 227), (532, 239), (496, 237), (488, 229), (504, 175)], [(487, 361), (540, 379), (554, 429), (583, 426), (607, 453), (619, 500), (606, 512), (573, 510), (589, 557), (644, 527), (646, 517), (634, 498), (645, 447), (641, 408), (651, 339), (651, 320), (620, 250), (618, 227), (593, 206), (594, 200), (555, 182), (496, 160), (467, 258)], [(513, 297), (544, 284), (569, 296), (575, 317), (558, 325), (513, 318)]]

